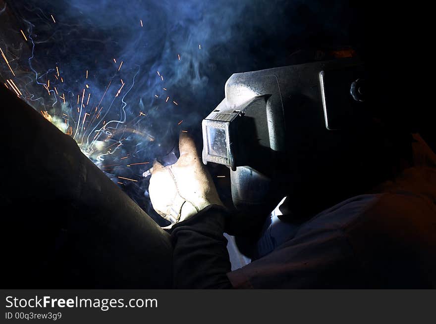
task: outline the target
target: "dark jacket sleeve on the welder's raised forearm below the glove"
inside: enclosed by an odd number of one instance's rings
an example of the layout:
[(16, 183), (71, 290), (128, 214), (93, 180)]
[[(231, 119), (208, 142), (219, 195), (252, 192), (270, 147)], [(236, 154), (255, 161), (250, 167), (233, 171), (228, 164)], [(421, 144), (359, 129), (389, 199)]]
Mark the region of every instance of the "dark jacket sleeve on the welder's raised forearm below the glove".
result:
[(224, 208), (211, 205), (173, 226), (175, 288), (231, 288), (226, 274), (231, 265), (224, 237)]

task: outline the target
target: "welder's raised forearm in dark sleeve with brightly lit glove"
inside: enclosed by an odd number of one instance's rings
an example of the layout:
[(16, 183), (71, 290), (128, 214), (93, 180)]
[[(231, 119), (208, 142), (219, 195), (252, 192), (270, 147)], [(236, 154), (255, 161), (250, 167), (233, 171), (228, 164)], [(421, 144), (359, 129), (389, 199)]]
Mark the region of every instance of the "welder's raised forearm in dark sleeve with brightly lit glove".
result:
[(194, 141), (182, 133), (180, 157), (150, 179), (153, 208), (171, 222), (176, 288), (230, 288), (230, 261), (223, 236), (226, 211)]

